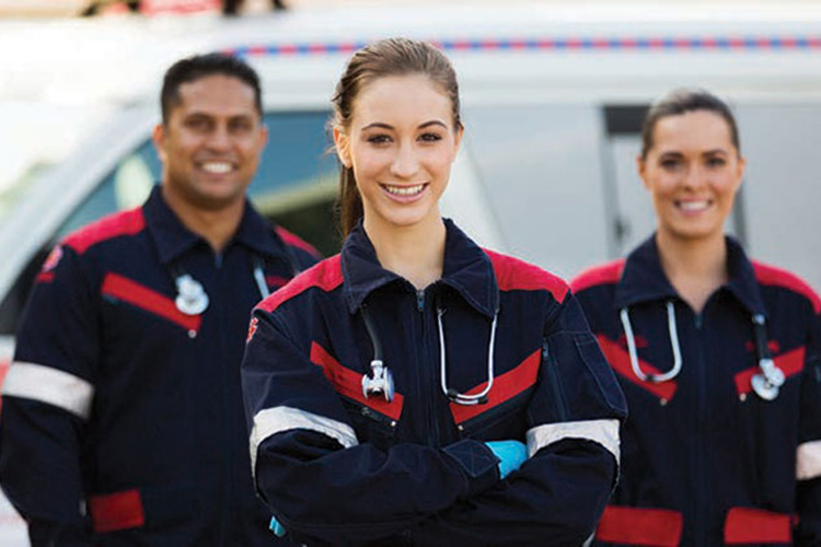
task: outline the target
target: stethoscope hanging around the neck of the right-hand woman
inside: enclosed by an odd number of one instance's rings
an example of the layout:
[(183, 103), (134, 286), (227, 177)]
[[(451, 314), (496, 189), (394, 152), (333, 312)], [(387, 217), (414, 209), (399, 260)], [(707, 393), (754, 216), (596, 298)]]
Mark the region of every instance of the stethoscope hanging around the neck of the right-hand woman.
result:
[[(652, 383), (667, 382), (678, 376), (681, 372), (682, 359), (679, 335), (675, 326), (675, 309), (673, 302), (671, 300), (667, 301), (667, 324), (670, 331), (670, 345), (673, 350), (673, 366), (663, 374), (645, 374), (638, 364), (636, 340), (633, 336), (633, 327), (631, 326), (627, 306), (622, 307), (618, 315), (622, 319), (625, 338), (627, 339), (627, 352), (629, 353), (633, 373), (639, 380)], [(753, 314), (752, 324), (753, 336), (755, 338), (755, 353), (759, 359), (759, 369), (761, 369), (761, 372), (754, 374), (752, 377), (752, 388), (762, 399), (773, 400), (778, 396), (780, 386), (784, 385), (784, 371), (775, 364), (775, 361), (773, 361), (773, 358), (770, 354), (770, 348), (767, 348), (766, 319), (764, 315)]]

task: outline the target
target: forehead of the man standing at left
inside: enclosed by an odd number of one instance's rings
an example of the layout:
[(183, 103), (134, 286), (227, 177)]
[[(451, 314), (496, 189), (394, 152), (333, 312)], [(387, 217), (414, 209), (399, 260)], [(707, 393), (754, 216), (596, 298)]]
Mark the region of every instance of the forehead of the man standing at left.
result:
[(256, 114), (254, 88), (239, 78), (210, 74), (180, 85), (180, 102), (172, 107), (184, 114), (203, 113), (215, 116)]

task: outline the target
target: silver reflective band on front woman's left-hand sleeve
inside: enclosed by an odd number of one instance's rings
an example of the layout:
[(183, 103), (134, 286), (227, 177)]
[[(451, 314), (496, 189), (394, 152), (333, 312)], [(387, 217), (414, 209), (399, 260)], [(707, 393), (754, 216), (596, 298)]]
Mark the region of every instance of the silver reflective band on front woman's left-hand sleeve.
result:
[(254, 429), (251, 431), (251, 469), (254, 474), (256, 474), (256, 452), (259, 444), (270, 435), (293, 429), (316, 431), (336, 440), (345, 449), (359, 444), (354, 428), (347, 423), (298, 408), (266, 408), (254, 416)]

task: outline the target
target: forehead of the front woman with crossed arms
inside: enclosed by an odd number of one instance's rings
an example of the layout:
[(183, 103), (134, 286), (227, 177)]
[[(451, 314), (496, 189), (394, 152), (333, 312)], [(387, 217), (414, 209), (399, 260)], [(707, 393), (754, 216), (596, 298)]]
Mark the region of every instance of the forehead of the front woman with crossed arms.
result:
[(418, 124), (453, 117), (450, 96), (424, 74), (391, 75), (365, 84), (354, 100), (354, 123)]

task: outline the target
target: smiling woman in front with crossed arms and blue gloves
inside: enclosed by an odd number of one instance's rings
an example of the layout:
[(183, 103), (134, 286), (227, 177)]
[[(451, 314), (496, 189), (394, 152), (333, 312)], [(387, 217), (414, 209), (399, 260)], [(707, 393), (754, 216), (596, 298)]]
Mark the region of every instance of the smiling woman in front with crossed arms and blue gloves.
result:
[(463, 133), (450, 62), (372, 44), (334, 106), (345, 245), (258, 305), (242, 370), (275, 532), (582, 544), (615, 484), (624, 399), (560, 279), (441, 218)]

